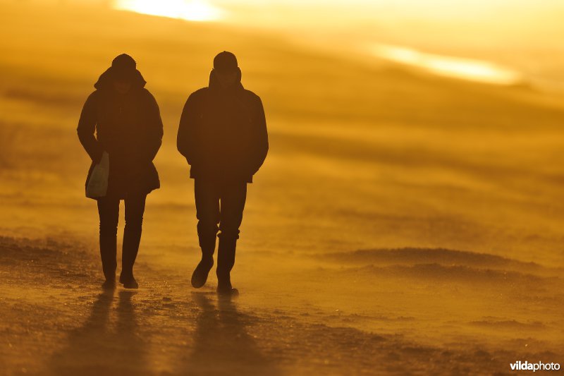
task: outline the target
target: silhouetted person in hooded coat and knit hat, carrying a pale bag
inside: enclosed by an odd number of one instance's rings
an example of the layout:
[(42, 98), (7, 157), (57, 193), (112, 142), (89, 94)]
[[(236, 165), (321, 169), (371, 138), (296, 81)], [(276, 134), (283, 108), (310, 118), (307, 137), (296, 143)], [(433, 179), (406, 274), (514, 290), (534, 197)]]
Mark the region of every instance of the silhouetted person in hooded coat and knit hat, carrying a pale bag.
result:
[(125, 231), (119, 281), (126, 288), (136, 289), (133, 264), (141, 239), (145, 198), (160, 186), (153, 159), (161, 147), (163, 123), (159, 106), (145, 89), (145, 80), (131, 56), (117, 56), (94, 87), (96, 90), (80, 114), (78, 138), (92, 159), (87, 184), (102, 153), (109, 154), (108, 190), (104, 197), (97, 198), (100, 255), (106, 277), (103, 286), (111, 288), (116, 284), (119, 202), (124, 200)]

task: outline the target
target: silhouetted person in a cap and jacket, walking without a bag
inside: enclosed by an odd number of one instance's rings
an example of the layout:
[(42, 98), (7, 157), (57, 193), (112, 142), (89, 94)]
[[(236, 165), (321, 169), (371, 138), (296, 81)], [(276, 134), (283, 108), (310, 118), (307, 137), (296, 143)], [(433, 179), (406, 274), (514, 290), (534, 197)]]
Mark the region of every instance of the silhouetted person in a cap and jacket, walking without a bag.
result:
[[(192, 274), (192, 286), (202, 287), (214, 265), (218, 293), (237, 293), (230, 272), (243, 220), (247, 183), (268, 152), (266, 120), (260, 98), (241, 85), (241, 71), (231, 52), (214, 58), (209, 86), (193, 92), (178, 128), (178, 151), (194, 178), (197, 231), (202, 260)], [(218, 227), (219, 224), (219, 227)]]

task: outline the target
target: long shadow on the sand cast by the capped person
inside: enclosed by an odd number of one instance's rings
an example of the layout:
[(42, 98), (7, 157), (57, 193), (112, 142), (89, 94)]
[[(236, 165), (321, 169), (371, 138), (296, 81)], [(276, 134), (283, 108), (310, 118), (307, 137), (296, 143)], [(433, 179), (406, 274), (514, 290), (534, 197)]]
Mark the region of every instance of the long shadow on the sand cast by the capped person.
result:
[(204, 293), (192, 293), (200, 307), (194, 346), (180, 373), (196, 375), (278, 375), (245, 329), (247, 316), (238, 313), (231, 298), (219, 298), (217, 307)]

